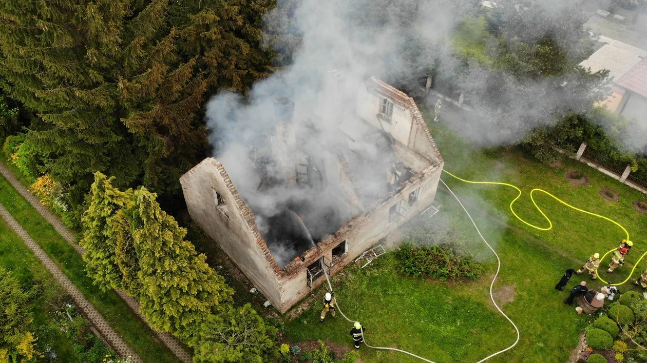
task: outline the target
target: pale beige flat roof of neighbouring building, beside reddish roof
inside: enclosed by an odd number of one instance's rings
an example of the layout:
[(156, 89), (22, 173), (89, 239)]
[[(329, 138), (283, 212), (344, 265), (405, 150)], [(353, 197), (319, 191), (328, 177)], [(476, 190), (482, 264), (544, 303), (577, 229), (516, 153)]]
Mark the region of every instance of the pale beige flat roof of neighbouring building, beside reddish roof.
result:
[(591, 54), (580, 65), (591, 68), (593, 72), (608, 69), (613, 81), (618, 81), (644, 57), (647, 57), (647, 51), (614, 40)]

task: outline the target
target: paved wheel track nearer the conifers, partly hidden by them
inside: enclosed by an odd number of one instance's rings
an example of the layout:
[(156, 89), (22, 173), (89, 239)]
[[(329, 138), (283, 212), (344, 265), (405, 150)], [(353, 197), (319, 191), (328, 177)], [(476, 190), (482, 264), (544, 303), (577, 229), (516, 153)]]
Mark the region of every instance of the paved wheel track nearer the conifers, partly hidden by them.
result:
[[(50, 225), (52, 225), (52, 227), (54, 227), (56, 232), (58, 232), (61, 236), (63, 236), (63, 238), (65, 238), (65, 240), (69, 244), (71, 244), (72, 247), (74, 247), (74, 249), (76, 249), (76, 252), (78, 252), (79, 254), (81, 254), (83, 256), (83, 253), (85, 253), (85, 249), (83, 249), (83, 247), (81, 247), (81, 245), (79, 245), (76, 242), (76, 237), (74, 236), (74, 233), (72, 233), (72, 231), (70, 231), (67, 227), (65, 227), (65, 225), (63, 225), (63, 222), (61, 222), (61, 220), (60, 220), (60, 218), (58, 218), (58, 216), (54, 215), (54, 213), (52, 213), (47, 207), (45, 207), (45, 205), (42, 205), (41, 202), (38, 200), (38, 198), (36, 198), (36, 196), (34, 196), (34, 194), (32, 194), (30, 191), (28, 191), (27, 188), (25, 187), (25, 185), (23, 185), (21, 182), (19, 182), (19, 180), (14, 175), (14, 173), (11, 172), (6, 167), (6, 165), (4, 163), (2, 163), (2, 162), (0, 162), (0, 174), (2, 174), (2, 176), (4, 176), (5, 179), (11, 185), (13, 185), (14, 189), (16, 189), (16, 191), (19, 192), (20, 195), (23, 196), (27, 200), (27, 202), (29, 202), (32, 205), (32, 207), (34, 207), (34, 209), (36, 209), (36, 211), (38, 211), (38, 213), (41, 216), (43, 216), (43, 218), (45, 218), (45, 220), (47, 220), (47, 222), (50, 223)], [(131, 309), (133, 309), (133, 311), (135, 311), (137, 316), (139, 316), (142, 319), (142, 321), (146, 322), (146, 319), (144, 318), (144, 315), (141, 313), (141, 311), (139, 309), (139, 302), (137, 302), (137, 300), (135, 300), (135, 298), (133, 298), (130, 295), (127, 295), (126, 292), (124, 292), (122, 290), (117, 290), (116, 293), (126, 302), (126, 304), (128, 304), (128, 306)], [(148, 324), (148, 322), (146, 322), (146, 324)], [(184, 347), (179, 342), (179, 340), (177, 340), (175, 337), (173, 337), (169, 333), (162, 333), (160, 331), (157, 331), (156, 329), (153, 329), (153, 327), (151, 327), (151, 329), (153, 331), (155, 331), (155, 334), (157, 334), (157, 337), (159, 337), (160, 340), (162, 340), (162, 342), (164, 342), (164, 345), (166, 345), (168, 347), (168, 349), (170, 349), (171, 352), (173, 352), (175, 357), (179, 358), (184, 363), (193, 362), (193, 358), (184, 349)], [(116, 351), (116, 349), (115, 349), (115, 351)], [(135, 360), (133, 360), (133, 363), (134, 362), (135, 362)]]

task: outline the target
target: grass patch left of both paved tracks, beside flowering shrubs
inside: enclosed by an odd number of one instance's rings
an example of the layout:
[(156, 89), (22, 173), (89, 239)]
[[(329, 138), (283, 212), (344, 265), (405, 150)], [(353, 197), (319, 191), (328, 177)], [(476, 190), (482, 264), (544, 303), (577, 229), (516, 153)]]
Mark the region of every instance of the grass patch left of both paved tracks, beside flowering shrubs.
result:
[(21, 238), (7, 227), (2, 218), (0, 218), (0, 265), (12, 271), (12, 277), (18, 280), (23, 290), (27, 291), (34, 284), (42, 287), (42, 293), (29, 304), (34, 318), (30, 331), (38, 338), (36, 349), (43, 351), (42, 347), (50, 346), (53, 351), (56, 351), (58, 357), (65, 357), (66, 362), (80, 362), (68, 338), (61, 333), (52, 320), (56, 309), (49, 302), (60, 300), (60, 296), (65, 295), (63, 288), (56, 284), (45, 266), (36, 259)]

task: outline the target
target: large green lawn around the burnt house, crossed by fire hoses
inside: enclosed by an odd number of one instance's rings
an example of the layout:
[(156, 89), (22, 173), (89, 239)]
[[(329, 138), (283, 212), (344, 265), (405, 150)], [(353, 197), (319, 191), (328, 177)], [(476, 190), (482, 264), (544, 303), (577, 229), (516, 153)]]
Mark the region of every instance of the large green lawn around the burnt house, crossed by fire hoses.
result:
[[(529, 200), (529, 191), (538, 187), (552, 192), (565, 202), (617, 220), (630, 231), (635, 242), (628, 264), (613, 276), (624, 280), (630, 266), (645, 251), (647, 216), (631, 207), (631, 202), (645, 198), (600, 174), (582, 163), (564, 161), (564, 167), (553, 168), (525, 159), (516, 150), (473, 149), (468, 143), (441, 125), (430, 127), (445, 159), (445, 168), (471, 180), (501, 181), (518, 185), (524, 191), (516, 211), (532, 223), (545, 223)], [(589, 176), (589, 186), (575, 186), (565, 178), (565, 169), (579, 169)], [(574, 307), (562, 303), (566, 292), (553, 289), (565, 269), (580, 267), (593, 252), (604, 252), (617, 246), (622, 230), (612, 223), (577, 213), (554, 202), (550, 197), (536, 197), (545, 213), (553, 220), (553, 230), (530, 229), (516, 220), (508, 206), (516, 196), (514, 189), (474, 186), (443, 179), (465, 203), (488, 242), (501, 257), (501, 273), (495, 293), (501, 287), (514, 287), (506, 296), (514, 300), (503, 310), (516, 322), (521, 332), (519, 344), (511, 351), (488, 362), (566, 362), (576, 346), (578, 333), (593, 316), (575, 313)], [(620, 192), (620, 202), (603, 200), (600, 187)], [(477, 282), (440, 283), (402, 276), (391, 255), (379, 258), (366, 269), (349, 267), (347, 276), (335, 276), (333, 283), (344, 313), (364, 322), (369, 343), (377, 346), (406, 349), (435, 362), (476, 362), (514, 342), (515, 333), (509, 322), (492, 306), (488, 288), (496, 259), (481, 242), (474, 227), (454, 198), (439, 187), (437, 202), (441, 213), (426, 223), (457, 225), (471, 236), (471, 249), (487, 265), (488, 272)], [(608, 264), (608, 260), (605, 261)], [(603, 262), (604, 263), (604, 262)], [(603, 265), (604, 266), (604, 265)], [(640, 271), (647, 266), (641, 263)], [(602, 266), (601, 266), (602, 267)], [(603, 269), (604, 271), (604, 269)], [(638, 272), (638, 271), (637, 271)], [(608, 277), (603, 273), (604, 277)], [(637, 277), (637, 275), (635, 275)], [(568, 288), (584, 276), (571, 279)], [(599, 287), (593, 282), (591, 287)], [(634, 289), (630, 283), (620, 290)], [(316, 293), (322, 295), (323, 290)], [(501, 296), (498, 297), (499, 299)], [(293, 342), (328, 338), (351, 345), (351, 326), (342, 318), (318, 322), (321, 309), (313, 304), (302, 316), (286, 323), (287, 338)], [(364, 362), (417, 362), (399, 353), (375, 351), (362, 347)]]

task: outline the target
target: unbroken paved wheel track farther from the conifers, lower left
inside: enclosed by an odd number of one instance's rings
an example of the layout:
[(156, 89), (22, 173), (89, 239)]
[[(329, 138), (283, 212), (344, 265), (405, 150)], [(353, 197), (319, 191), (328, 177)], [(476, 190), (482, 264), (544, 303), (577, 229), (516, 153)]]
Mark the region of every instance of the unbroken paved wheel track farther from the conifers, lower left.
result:
[(45, 267), (49, 270), (54, 278), (58, 281), (59, 284), (63, 286), (65, 291), (72, 297), (72, 301), (83, 313), (85, 318), (94, 326), (94, 328), (99, 332), (99, 334), (105, 339), (105, 341), (111, 346), (115, 353), (120, 357), (131, 357), (133, 363), (143, 362), (141, 358), (135, 354), (135, 351), (129, 347), (124, 340), (119, 337), (119, 335), (113, 330), (113, 328), (105, 320), (94, 306), (83, 296), (83, 293), (74, 285), (72, 282), (65, 276), (63, 271), (52, 261), (47, 253), (41, 249), (41, 247), (32, 240), (27, 231), (21, 227), (21, 225), (14, 219), (14, 217), (5, 209), (5, 207), (0, 204), (0, 216), (5, 220), (7, 225), (14, 230), (14, 232), (23, 238), (25, 244), (34, 251), (34, 255), (38, 258)]

